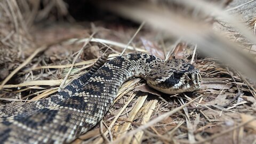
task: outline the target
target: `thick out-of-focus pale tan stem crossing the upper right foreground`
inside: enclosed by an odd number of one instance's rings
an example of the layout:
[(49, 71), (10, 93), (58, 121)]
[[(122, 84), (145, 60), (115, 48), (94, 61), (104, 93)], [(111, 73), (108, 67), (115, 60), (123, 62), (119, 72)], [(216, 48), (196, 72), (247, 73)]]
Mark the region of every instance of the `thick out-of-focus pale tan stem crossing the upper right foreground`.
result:
[[(156, 4), (138, 2), (102, 2), (101, 4), (109, 11), (113, 11), (139, 22), (146, 21), (148, 25), (166, 31), (166, 33), (170, 35), (183, 37), (187, 39), (187, 41), (195, 42), (205, 54), (218, 57), (221, 62), (242, 71), (244, 74), (254, 79), (254, 81), (256, 79), (256, 62), (251, 55), (244, 53), (238, 44), (215, 33), (211, 28), (212, 26), (206, 22), (195, 21), (193, 18), (184, 17), (182, 14), (174, 13), (169, 9), (165, 9), (166, 7)], [(191, 3), (189, 6), (191, 6)], [(214, 7), (214, 5), (212, 6), (213, 8), (208, 9), (209, 11), (212, 10), (212, 12), (216, 12), (216, 10), (219, 10)], [(223, 11), (223, 13), (225, 13), (225, 11)], [(220, 15), (220, 12), (218, 12), (218, 15)], [(227, 15), (228, 14), (225, 13), (225, 18), (227, 18)], [(231, 18), (227, 21), (236, 22)], [(243, 27), (237, 23), (234, 25), (239, 27), (239, 30), (242, 30), (242, 32), (245, 30), (244, 33), (246, 36), (249, 36), (251, 41), (256, 41), (255, 37), (253, 39), (252, 35), (247, 33), (245, 26)]]

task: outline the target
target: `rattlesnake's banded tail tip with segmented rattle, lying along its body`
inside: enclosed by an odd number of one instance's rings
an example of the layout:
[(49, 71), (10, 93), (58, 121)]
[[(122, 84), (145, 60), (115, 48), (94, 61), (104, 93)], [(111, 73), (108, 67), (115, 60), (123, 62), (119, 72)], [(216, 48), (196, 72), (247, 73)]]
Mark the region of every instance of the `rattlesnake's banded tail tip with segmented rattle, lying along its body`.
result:
[(94, 63), (88, 73), (82, 74), (81, 76), (73, 79), (71, 83), (61, 89), (61, 91), (57, 94), (51, 95), (50, 98), (25, 104), (20, 103), (18, 105), (12, 105), (12, 103), (7, 103), (6, 105), (0, 106), (0, 117), (8, 117), (21, 113), (27, 113), (32, 110), (43, 109), (71, 97), (76, 92), (82, 92), (88, 79), (107, 61), (107, 58), (107, 54), (102, 55), (102, 57), (100, 57)]

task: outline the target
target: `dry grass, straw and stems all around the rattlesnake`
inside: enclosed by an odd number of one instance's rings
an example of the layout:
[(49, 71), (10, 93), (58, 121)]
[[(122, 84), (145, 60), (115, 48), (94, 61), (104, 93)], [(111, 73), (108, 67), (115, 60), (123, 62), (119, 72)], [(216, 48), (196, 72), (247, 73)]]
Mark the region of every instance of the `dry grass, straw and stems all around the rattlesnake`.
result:
[(115, 14), (75, 22), (68, 4), (0, 1), (1, 105), (51, 97), (105, 52), (149, 52), (193, 63), (201, 89), (166, 95), (131, 79), (103, 121), (73, 143), (256, 143), (255, 18), (239, 22), (223, 10), (228, 1), (182, 0), (93, 4), (141, 24)]

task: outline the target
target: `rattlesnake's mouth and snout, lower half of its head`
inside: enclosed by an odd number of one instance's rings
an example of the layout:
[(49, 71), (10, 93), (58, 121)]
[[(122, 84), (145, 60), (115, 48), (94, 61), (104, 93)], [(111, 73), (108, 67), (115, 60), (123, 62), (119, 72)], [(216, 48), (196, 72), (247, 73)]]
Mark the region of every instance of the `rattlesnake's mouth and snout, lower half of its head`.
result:
[(175, 94), (182, 92), (191, 92), (199, 88), (202, 82), (202, 76), (199, 73), (184, 73), (179, 77), (175, 84), (167, 83), (166, 81), (161, 83), (151, 83), (148, 82), (148, 85), (154, 89), (161, 91), (167, 94)]

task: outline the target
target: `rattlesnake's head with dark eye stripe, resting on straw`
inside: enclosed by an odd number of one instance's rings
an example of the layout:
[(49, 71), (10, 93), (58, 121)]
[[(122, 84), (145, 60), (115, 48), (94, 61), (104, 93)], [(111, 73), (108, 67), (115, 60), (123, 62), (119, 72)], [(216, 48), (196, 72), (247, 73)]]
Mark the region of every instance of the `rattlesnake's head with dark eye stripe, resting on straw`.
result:
[(172, 59), (155, 67), (149, 71), (145, 79), (150, 87), (163, 93), (191, 92), (201, 85), (202, 77), (199, 70), (185, 60)]

